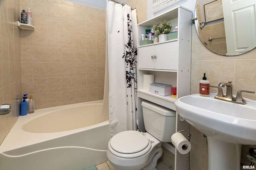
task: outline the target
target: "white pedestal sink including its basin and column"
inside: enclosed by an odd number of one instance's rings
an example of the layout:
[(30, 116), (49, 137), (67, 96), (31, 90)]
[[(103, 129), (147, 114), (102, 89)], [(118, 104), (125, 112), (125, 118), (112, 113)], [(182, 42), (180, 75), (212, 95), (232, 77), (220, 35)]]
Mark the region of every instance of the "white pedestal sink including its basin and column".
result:
[(193, 94), (175, 101), (177, 113), (207, 135), (208, 170), (240, 170), (241, 145), (256, 145), (256, 101), (235, 104)]

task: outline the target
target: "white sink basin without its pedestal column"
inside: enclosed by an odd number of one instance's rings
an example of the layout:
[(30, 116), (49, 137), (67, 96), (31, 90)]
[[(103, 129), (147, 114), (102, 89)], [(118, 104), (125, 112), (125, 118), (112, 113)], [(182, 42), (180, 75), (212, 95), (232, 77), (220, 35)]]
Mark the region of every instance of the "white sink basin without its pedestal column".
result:
[(256, 144), (256, 101), (235, 104), (199, 94), (184, 96), (175, 101), (177, 113), (209, 137), (228, 143)]

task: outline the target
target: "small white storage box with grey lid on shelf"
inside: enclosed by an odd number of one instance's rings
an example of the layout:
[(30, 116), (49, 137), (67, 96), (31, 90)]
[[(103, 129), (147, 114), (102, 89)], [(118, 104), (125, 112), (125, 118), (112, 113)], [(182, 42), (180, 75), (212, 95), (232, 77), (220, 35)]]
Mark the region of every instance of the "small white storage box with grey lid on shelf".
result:
[(172, 85), (163, 83), (150, 84), (150, 92), (159, 94), (161, 96), (168, 96), (172, 94)]

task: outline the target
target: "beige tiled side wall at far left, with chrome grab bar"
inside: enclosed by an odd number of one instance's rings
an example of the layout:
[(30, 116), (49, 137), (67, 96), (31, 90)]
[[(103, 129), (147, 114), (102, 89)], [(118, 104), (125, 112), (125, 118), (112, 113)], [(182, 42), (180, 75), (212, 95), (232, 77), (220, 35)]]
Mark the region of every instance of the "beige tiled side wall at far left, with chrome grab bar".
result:
[(0, 144), (18, 119), (21, 99), (19, 0), (0, 0), (0, 104), (11, 104), (0, 115)]

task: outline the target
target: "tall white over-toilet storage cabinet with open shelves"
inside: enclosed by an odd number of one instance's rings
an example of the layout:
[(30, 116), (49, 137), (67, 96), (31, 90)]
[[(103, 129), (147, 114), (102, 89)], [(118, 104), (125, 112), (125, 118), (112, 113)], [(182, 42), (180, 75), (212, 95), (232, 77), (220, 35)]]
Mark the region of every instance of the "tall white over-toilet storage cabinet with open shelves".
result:
[[(171, 30), (178, 26), (177, 39), (138, 47), (137, 108), (140, 131), (145, 131), (141, 107), (142, 101), (148, 100), (176, 110), (174, 106), (176, 98), (190, 95), (191, 18), (192, 12), (179, 6), (138, 24), (138, 42), (141, 41), (141, 35), (145, 34), (146, 29), (151, 29), (153, 25), (158, 24), (160, 21), (166, 20), (170, 22), (172, 25)], [(154, 74), (155, 82), (176, 86), (176, 98), (171, 95), (160, 96), (143, 90), (143, 74)], [(189, 125), (186, 121), (180, 121), (178, 114), (176, 114), (176, 131), (180, 130), (189, 132)], [(166, 145), (169, 144), (166, 143)], [(166, 148), (168, 149), (168, 147)], [(189, 154), (182, 155), (175, 150), (175, 161), (176, 170), (188, 170)]]

